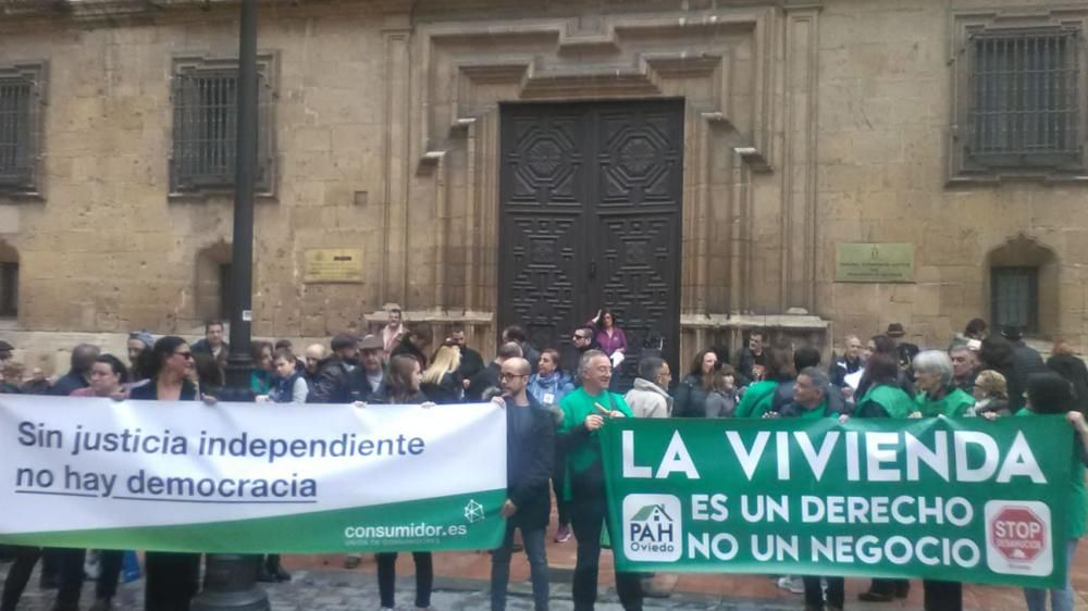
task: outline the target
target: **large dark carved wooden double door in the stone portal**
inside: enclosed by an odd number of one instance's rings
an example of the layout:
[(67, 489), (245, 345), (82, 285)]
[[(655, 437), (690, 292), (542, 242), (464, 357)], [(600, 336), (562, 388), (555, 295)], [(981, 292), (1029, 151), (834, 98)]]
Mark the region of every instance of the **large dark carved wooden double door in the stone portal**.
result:
[(499, 324), (561, 351), (604, 308), (625, 377), (651, 334), (676, 369), (682, 101), (504, 105), (500, 164)]

